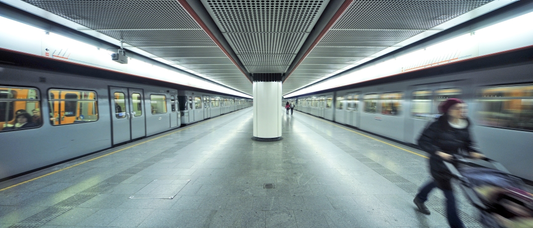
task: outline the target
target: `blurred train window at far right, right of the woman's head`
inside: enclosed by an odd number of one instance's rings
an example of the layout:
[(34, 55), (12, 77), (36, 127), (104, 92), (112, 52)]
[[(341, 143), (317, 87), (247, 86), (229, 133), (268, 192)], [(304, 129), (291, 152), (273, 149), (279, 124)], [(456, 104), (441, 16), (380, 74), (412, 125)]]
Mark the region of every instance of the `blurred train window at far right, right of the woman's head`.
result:
[(481, 88), (480, 125), (533, 131), (533, 85)]

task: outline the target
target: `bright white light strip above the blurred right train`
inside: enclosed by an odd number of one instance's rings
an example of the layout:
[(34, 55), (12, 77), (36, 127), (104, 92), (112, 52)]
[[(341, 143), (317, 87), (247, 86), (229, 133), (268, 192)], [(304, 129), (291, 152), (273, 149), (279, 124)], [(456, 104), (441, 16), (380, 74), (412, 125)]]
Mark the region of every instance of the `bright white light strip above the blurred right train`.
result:
[(365, 66), (357, 71), (319, 82), (308, 88), (286, 94), (290, 98), (315, 91), (375, 80), (394, 74), (439, 66), (469, 58), (504, 52), (533, 45), (533, 12), (492, 26), (471, 31), (441, 43), (414, 50), (382, 63)]

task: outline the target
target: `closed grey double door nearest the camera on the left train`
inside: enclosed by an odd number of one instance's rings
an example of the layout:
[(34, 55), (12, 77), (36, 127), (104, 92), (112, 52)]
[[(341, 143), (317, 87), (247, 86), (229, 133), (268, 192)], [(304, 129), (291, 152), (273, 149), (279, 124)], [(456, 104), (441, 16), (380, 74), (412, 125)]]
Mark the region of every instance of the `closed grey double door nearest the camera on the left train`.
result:
[(109, 88), (113, 126), (113, 144), (146, 136), (146, 120), (142, 107), (142, 89)]

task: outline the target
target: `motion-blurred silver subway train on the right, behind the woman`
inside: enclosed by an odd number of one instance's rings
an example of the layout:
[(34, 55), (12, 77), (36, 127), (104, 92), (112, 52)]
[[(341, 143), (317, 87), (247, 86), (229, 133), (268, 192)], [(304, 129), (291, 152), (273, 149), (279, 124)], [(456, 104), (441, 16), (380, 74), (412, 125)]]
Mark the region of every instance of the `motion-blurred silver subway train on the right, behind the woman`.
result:
[(295, 109), (416, 145), (439, 116), (438, 105), (460, 98), (469, 106), (473, 139), (482, 153), (514, 175), (533, 180), (533, 64), (456, 72), (285, 98)]

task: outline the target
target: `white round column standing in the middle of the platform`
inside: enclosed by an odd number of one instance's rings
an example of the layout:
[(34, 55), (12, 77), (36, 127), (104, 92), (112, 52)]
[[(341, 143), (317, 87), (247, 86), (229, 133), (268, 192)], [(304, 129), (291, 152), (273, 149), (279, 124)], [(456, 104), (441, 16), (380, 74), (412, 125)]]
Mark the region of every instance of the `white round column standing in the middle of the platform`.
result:
[(254, 137), (281, 137), (281, 82), (254, 81)]

